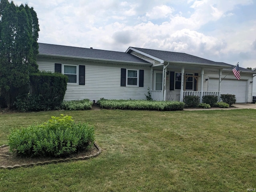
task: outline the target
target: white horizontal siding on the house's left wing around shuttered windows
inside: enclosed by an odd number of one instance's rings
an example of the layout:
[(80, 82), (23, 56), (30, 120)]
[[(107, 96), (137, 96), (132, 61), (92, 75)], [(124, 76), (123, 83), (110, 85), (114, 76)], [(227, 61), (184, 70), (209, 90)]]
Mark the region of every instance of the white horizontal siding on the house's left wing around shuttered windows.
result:
[[(135, 66), (128, 64), (110, 64), (110, 63), (90, 63), (74, 62), (63, 60), (38, 60), (40, 70), (54, 72), (54, 63), (85, 65), (85, 85), (68, 84), (64, 100), (100, 100), (105, 99), (140, 99), (145, 100), (145, 94), (150, 87), (150, 67)], [(144, 86), (125, 86), (120, 87), (121, 68), (144, 70)]]

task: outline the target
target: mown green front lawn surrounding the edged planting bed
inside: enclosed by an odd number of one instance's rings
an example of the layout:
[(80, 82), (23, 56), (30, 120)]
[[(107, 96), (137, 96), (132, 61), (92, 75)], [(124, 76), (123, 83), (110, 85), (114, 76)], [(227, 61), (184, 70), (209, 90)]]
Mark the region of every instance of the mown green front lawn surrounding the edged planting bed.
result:
[(256, 188), (256, 110), (90, 110), (0, 114), (11, 128), (60, 113), (95, 126), (90, 160), (0, 170), (0, 191), (223, 191)]

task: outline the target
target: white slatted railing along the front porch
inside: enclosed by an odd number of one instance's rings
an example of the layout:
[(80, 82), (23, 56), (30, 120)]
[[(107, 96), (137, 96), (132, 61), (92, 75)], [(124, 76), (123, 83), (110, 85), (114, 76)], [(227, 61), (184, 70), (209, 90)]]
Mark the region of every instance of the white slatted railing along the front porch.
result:
[[(154, 101), (162, 101), (163, 100), (163, 91), (161, 90), (150, 90), (151, 98)], [(166, 97), (165, 100), (174, 100), (183, 102), (183, 98), (185, 96), (198, 96), (200, 98), (200, 102), (202, 102), (202, 97), (206, 95), (214, 95), (219, 97), (219, 92), (206, 92), (206, 91), (180, 91), (180, 92), (172, 92), (170, 91), (170, 97)]]

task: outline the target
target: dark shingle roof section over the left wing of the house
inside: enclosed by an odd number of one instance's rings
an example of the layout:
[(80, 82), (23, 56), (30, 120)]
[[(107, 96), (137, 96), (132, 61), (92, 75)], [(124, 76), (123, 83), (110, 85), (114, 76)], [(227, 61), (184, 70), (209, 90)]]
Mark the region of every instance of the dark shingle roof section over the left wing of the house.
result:
[(133, 56), (125, 52), (53, 45), (53, 44), (45, 44), (45, 43), (38, 43), (38, 45), (39, 45), (39, 54), (70, 56), (70, 57), (79, 57), (79, 58), (95, 58), (95, 59), (116, 60), (116, 61), (124, 61), (124, 62), (127, 61), (127, 62), (148, 63), (145, 60), (142, 60), (136, 56)]

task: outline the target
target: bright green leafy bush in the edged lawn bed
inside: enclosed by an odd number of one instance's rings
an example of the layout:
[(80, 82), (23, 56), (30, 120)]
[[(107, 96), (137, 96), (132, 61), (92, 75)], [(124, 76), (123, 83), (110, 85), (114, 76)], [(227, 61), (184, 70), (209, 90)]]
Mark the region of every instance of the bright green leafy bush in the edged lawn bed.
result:
[(12, 152), (24, 156), (68, 156), (94, 142), (94, 127), (75, 124), (71, 116), (53, 117), (40, 125), (14, 129), (8, 136)]

